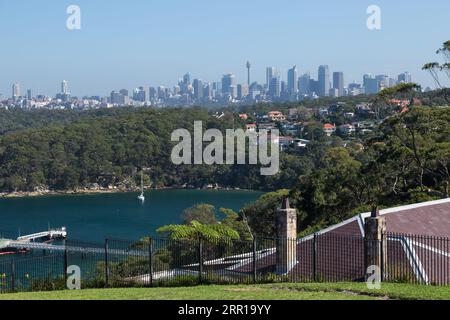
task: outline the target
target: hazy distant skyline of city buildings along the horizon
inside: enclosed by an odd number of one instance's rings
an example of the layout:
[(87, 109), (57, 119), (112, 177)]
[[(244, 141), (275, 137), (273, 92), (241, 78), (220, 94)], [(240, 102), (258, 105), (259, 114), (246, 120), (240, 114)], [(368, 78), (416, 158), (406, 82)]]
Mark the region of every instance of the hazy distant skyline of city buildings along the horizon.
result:
[(366, 74), (362, 83), (345, 85), (344, 72), (331, 73), (327, 65), (321, 65), (317, 80), (310, 73), (300, 75), (297, 66), (288, 70), (286, 79), (282, 79), (278, 69), (267, 67), (265, 83), (258, 83), (251, 81), (249, 62), (246, 67), (245, 83), (238, 83), (237, 77), (232, 73), (223, 75), (217, 82), (192, 79), (191, 74), (187, 73), (173, 88), (141, 86), (131, 92), (128, 89), (114, 90), (107, 97), (73, 97), (65, 80), (61, 82), (61, 91), (55, 97), (34, 96), (31, 89), (23, 94), (20, 84), (15, 83), (10, 98), (0, 95), (0, 107), (85, 109), (113, 106), (226, 106), (233, 103), (302, 101), (319, 97), (376, 94), (384, 88), (412, 81), (409, 72), (404, 72), (395, 79), (388, 75)]

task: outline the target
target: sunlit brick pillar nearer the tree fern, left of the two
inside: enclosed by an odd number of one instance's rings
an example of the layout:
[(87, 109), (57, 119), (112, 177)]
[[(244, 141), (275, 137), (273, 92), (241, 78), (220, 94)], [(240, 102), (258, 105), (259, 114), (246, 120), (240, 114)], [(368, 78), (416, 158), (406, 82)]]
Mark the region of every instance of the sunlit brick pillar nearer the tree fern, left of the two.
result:
[(289, 199), (284, 199), (277, 210), (277, 265), (276, 273), (288, 274), (297, 264), (297, 210)]

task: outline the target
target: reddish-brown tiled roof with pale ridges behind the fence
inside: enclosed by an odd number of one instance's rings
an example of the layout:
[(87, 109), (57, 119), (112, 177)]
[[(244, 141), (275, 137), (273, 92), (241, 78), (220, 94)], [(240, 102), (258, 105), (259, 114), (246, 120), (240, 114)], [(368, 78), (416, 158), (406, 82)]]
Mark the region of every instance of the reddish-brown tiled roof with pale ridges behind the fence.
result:
[[(387, 238), (387, 273), (390, 277), (406, 275), (424, 283), (450, 283), (450, 270), (446, 269), (450, 265), (450, 242), (405, 235), (450, 238), (450, 199), (381, 210), (380, 215), (386, 216), (387, 229), (392, 234)], [(368, 217), (370, 213), (363, 213), (317, 233), (316, 272), (319, 276), (326, 275), (334, 281), (361, 280), (364, 277), (364, 221)], [(295, 281), (311, 280), (313, 239), (314, 236), (308, 236), (296, 241), (297, 263), (287, 277)], [(275, 272), (276, 269), (276, 241), (268, 243), (265, 248), (258, 252), (258, 274)], [(228, 259), (223, 258), (212, 264), (223, 265), (226, 261)], [(229, 264), (227, 270), (251, 274), (250, 253)]]

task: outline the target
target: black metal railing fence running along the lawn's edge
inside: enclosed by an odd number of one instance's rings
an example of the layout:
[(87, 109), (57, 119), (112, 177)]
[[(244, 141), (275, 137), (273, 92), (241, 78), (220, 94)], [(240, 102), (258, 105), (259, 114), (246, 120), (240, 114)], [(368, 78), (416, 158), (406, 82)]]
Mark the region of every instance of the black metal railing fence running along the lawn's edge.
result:
[[(450, 239), (387, 234), (379, 245), (384, 281), (450, 285)], [(0, 293), (65, 289), (69, 266), (79, 267), (82, 288), (364, 281), (368, 247), (374, 246), (362, 237), (332, 233), (254, 241), (34, 244), (26, 254), (0, 256)]]

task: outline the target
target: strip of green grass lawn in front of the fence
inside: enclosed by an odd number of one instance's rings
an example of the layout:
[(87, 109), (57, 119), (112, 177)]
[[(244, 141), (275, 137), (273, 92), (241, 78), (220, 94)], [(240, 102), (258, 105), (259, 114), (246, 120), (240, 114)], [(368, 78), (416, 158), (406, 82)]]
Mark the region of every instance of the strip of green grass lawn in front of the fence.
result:
[(0, 295), (0, 300), (450, 300), (450, 287), (364, 283), (99, 289)]

